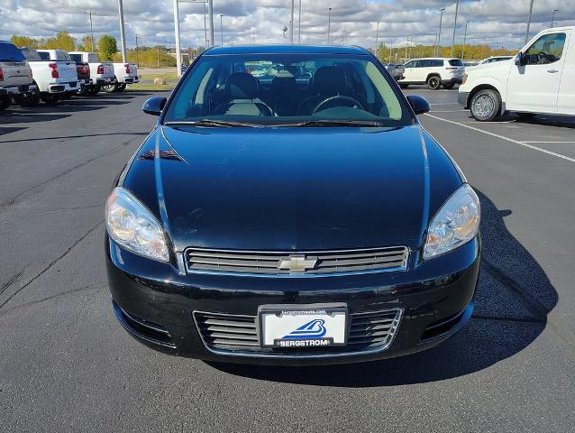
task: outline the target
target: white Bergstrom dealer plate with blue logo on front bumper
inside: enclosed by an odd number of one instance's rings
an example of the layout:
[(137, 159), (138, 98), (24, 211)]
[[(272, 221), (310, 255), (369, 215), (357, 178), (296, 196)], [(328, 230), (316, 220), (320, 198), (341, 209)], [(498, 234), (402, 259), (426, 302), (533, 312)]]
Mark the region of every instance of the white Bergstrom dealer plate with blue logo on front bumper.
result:
[(345, 345), (345, 304), (264, 305), (259, 309), (260, 345), (303, 349)]

